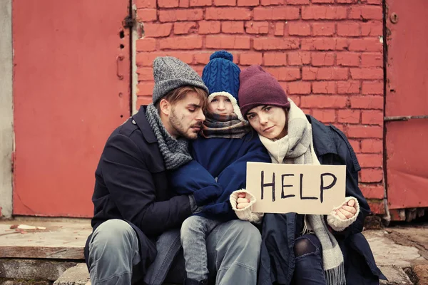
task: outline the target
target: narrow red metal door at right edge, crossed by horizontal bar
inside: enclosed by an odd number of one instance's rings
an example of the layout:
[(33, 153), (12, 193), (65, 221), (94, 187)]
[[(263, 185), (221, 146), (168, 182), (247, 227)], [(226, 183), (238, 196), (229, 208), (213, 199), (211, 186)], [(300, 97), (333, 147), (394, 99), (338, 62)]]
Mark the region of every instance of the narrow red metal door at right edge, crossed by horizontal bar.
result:
[(428, 207), (427, 11), (427, 0), (387, 0), (389, 209)]

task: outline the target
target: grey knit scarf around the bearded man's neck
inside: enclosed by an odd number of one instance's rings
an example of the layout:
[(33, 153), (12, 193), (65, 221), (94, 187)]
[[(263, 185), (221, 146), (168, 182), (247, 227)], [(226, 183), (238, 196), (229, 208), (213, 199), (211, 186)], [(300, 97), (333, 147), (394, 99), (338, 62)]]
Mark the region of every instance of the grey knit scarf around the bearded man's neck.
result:
[(188, 141), (171, 137), (163, 126), (158, 109), (153, 104), (147, 106), (146, 118), (158, 139), (159, 149), (167, 170), (174, 170), (192, 160), (188, 150)]

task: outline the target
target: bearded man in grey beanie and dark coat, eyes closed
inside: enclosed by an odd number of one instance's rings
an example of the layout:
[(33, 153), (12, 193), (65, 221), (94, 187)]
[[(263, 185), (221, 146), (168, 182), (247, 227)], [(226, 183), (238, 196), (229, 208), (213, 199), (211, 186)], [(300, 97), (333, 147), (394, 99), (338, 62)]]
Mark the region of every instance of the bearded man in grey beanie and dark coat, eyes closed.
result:
[[(191, 160), (187, 140), (197, 138), (205, 120), (208, 88), (177, 58), (156, 58), (153, 75), (153, 104), (113, 131), (98, 163), (93, 234), (85, 250), (93, 285), (131, 284), (143, 277), (146, 284), (162, 284), (170, 267), (171, 281), (182, 283), (183, 257), (175, 257), (180, 225), (216, 198), (198, 191), (173, 197), (167, 180), (168, 170)], [(217, 227), (207, 237), (216, 283), (255, 282), (260, 242), (248, 222)]]

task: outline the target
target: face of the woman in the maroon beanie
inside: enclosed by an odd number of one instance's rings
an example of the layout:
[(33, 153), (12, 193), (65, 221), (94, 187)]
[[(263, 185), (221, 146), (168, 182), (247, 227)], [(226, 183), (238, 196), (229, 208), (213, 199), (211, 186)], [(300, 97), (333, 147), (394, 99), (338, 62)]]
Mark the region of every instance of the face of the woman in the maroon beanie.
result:
[(280, 107), (260, 105), (247, 113), (247, 120), (259, 135), (270, 140), (287, 135), (287, 115)]

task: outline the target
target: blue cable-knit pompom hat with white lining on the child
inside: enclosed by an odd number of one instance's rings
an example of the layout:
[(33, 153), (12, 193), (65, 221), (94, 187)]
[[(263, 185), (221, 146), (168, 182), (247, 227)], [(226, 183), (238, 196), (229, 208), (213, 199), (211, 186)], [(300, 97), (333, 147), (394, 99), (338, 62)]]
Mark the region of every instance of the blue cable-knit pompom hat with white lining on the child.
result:
[(238, 105), (240, 68), (233, 63), (233, 55), (228, 51), (216, 51), (210, 56), (210, 62), (203, 68), (202, 80), (210, 90), (208, 102), (215, 96), (230, 99), (233, 111), (240, 120), (245, 120)]

